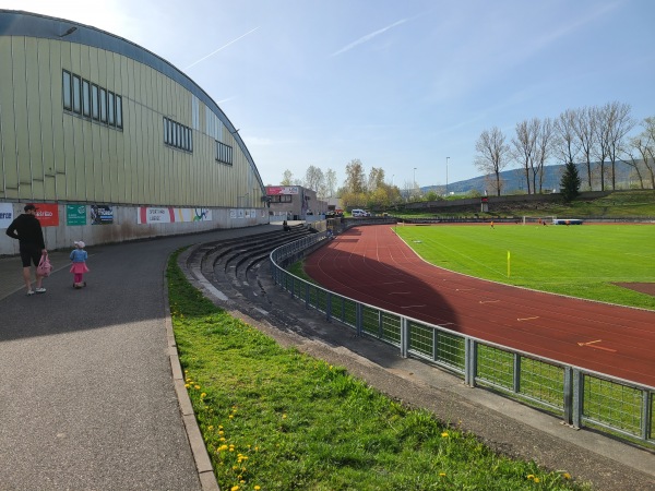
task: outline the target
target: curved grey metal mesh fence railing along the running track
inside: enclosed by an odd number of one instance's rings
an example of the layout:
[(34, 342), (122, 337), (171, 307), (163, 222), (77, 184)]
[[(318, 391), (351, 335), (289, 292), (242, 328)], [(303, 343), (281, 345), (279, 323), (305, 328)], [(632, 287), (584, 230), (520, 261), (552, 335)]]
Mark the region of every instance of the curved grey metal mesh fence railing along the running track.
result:
[[(358, 224), (359, 225), (359, 224)], [(291, 297), (412, 356), (458, 374), (472, 386), (560, 416), (573, 428), (593, 427), (631, 441), (655, 444), (655, 388), (501, 346), (359, 302), (285, 270), (330, 239), (314, 233), (271, 253), (274, 282)]]

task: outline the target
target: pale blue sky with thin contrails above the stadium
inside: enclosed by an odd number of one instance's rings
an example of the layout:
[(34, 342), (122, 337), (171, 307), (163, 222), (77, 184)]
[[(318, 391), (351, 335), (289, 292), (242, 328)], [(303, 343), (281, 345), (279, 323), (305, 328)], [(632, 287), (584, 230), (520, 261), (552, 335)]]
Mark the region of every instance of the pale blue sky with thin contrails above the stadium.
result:
[[(359, 159), (400, 188), (480, 175), (498, 127), (619, 101), (655, 116), (652, 0), (0, 0), (92, 25), (189, 75), (264, 184)], [(635, 132), (639, 128), (635, 129)], [(558, 164), (550, 161), (549, 164)]]

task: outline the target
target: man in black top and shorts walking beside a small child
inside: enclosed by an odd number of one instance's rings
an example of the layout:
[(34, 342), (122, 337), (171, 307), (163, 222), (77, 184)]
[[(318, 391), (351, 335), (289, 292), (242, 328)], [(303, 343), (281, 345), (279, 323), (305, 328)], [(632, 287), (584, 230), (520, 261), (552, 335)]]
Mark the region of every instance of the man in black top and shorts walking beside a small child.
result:
[(48, 252), (44, 241), (44, 231), (40, 223), (36, 218), (37, 207), (27, 204), (23, 208), (25, 213), (17, 216), (7, 229), (7, 235), (20, 242), (21, 261), (23, 262), (23, 279), (27, 287), (27, 295), (45, 294), (46, 289), (41, 287), (44, 277), (36, 272), (35, 289), (32, 289), (31, 265), (38, 266), (43, 254)]

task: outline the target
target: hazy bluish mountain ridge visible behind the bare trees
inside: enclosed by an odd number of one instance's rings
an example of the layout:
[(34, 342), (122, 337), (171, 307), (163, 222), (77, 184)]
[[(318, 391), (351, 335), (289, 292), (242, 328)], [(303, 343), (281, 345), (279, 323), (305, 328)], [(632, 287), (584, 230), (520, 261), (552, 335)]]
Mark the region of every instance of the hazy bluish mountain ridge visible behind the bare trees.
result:
[[(597, 167), (598, 164), (592, 164), (592, 169)], [(611, 164), (605, 164), (606, 179), (610, 176), (611, 172)], [(544, 167), (544, 178), (541, 180), (541, 189), (544, 191), (559, 191), (560, 180), (562, 172), (564, 171), (563, 165), (553, 165)], [(620, 188), (628, 188), (630, 184), (630, 176), (633, 169), (624, 164), (617, 163), (616, 172), (617, 172), (617, 187), (619, 183)], [(577, 164), (577, 172), (580, 173), (580, 179), (582, 179), (583, 188), (586, 183), (586, 166), (584, 164)], [(465, 181), (456, 181), (449, 182), (448, 192), (454, 194), (466, 194), (469, 191), (477, 191), (480, 194), (485, 194), (485, 191), (488, 194), (492, 194), (492, 187), (489, 185), (489, 180), (495, 180), (495, 176), (479, 176), (473, 179), (467, 179)], [(523, 169), (510, 169), (503, 170), (500, 172), (500, 179), (503, 181), (502, 193), (503, 194), (512, 194), (515, 192), (525, 192), (527, 193), (527, 182), (525, 181), (525, 172)], [(537, 187), (539, 184), (537, 183)], [(431, 190), (434, 190), (438, 194), (445, 194), (445, 185), (426, 185), (420, 189), (421, 192), (427, 193)]]

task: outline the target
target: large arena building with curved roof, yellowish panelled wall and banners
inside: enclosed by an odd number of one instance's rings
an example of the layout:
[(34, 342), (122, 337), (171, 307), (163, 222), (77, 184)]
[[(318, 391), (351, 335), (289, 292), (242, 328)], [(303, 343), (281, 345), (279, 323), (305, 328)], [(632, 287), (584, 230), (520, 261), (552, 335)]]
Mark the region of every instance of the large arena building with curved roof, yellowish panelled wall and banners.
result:
[[(238, 130), (184, 73), (98, 28), (0, 10), (0, 229), (48, 249), (269, 223)], [(0, 254), (17, 241), (0, 233)]]

